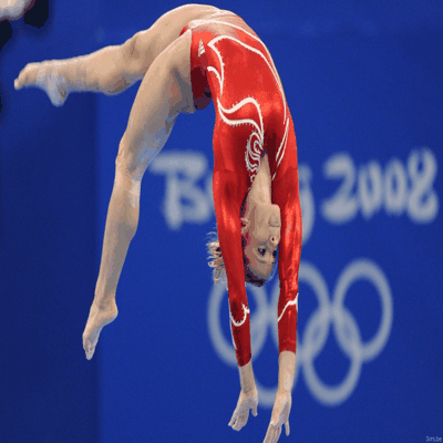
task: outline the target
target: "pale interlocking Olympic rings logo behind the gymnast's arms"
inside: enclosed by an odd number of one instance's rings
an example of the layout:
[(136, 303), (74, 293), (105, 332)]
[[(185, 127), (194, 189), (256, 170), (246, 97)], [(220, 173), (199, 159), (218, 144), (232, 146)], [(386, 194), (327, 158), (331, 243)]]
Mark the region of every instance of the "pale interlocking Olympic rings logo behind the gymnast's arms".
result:
[[(367, 342), (362, 341), (360, 328), (352, 313), (344, 306), (349, 288), (359, 280), (369, 281), (375, 288), (381, 301), (379, 328), (375, 334)], [(364, 258), (356, 259), (344, 268), (337, 281), (332, 300), (329, 298), (328, 287), (322, 275), (313, 265), (306, 261), (300, 262), (299, 282), (310, 286), (317, 296), (319, 307), (307, 320), (305, 331), (302, 333), (299, 331), (298, 333), (293, 387), (302, 368), (305, 381), (313, 396), (324, 405), (338, 405), (343, 403), (356, 389), (362, 364), (379, 356), (389, 339), (393, 317), (391, 289), (380, 267)], [(265, 344), (268, 328), (270, 328), (272, 340), (278, 349), (278, 279), (272, 288), (270, 305), (268, 305), (264, 288), (253, 287), (250, 292), (257, 305), (250, 317), (253, 359), (256, 359)], [(227, 291), (223, 286), (214, 287), (210, 291), (207, 312), (209, 337), (218, 357), (226, 364), (237, 367), (231, 340), (226, 340), (220, 326), (219, 312), (222, 300), (225, 297), (227, 299)], [(313, 364), (326, 344), (331, 326), (339, 347), (351, 361), (346, 378), (338, 385), (323, 383)], [(277, 387), (274, 389), (264, 388), (257, 378), (256, 383), (260, 404), (265, 408), (272, 408)]]

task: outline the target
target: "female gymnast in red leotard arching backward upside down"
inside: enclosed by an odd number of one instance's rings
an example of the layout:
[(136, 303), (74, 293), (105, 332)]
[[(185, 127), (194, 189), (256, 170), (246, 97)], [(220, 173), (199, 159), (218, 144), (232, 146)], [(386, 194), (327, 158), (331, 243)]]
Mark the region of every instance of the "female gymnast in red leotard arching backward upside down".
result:
[[(189, 56), (190, 55), (190, 56)], [(301, 212), (292, 119), (276, 66), (257, 34), (233, 12), (187, 4), (162, 16), (122, 45), (69, 60), (30, 63), (16, 89), (43, 89), (61, 106), (72, 91), (117, 94), (142, 80), (115, 161), (102, 261), (83, 347), (91, 359), (117, 316), (115, 292), (138, 223), (147, 165), (181, 113), (214, 101), (213, 193), (218, 241), (208, 244), (214, 280), (225, 272), (240, 395), (229, 425), (257, 415), (245, 281), (261, 286), (279, 245), (279, 378), (265, 443), (278, 441), (289, 412), (296, 363)], [(280, 237), (281, 235), (281, 237)]]

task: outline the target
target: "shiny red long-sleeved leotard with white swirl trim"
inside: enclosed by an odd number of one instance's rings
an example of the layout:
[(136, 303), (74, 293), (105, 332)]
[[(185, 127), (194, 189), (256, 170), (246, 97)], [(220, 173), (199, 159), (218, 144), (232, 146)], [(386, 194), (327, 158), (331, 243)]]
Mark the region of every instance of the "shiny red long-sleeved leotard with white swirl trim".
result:
[(279, 352), (296, 352), (298, 269), (301, 251), (297, 144), (292, 119), (271, 56), (257, 34), (230, 13), (189, 22), (190, 75), (197, 110), (214, 100), (213, 193), (228, 281), (230, 326), (240, 367), (249, 362), (250, 322), (241, 248), (240, 209), (264, 150), (271, 200), (280, 207), (278, 274)]

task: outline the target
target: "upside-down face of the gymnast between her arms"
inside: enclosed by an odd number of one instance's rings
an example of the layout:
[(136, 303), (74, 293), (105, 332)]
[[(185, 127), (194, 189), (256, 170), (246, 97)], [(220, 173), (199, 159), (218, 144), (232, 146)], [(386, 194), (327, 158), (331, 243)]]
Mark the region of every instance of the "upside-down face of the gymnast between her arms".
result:
[[(266, 280), (276, 261), (280, 243), (281, 216), (278, 205), (255, 202), (244, 223), (245, 271), (251, 280)], [(261, 286), (257, 284), (256, 286)], [(254, 285), (254, 282), (253, 282)]]

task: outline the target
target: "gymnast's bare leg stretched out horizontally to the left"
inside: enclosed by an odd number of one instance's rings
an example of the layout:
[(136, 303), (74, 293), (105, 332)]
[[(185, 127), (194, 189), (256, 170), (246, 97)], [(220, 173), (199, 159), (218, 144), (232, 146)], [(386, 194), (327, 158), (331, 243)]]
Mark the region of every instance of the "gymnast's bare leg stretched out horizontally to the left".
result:
[(73, 91), (117, 94), (143, 79), (189, 20), (215, 9), (186, 4), (163, 14), (150, 29), (137, 32), (121, 45), (73, 59), (29, 63), (16, 79), (14, 87), (40, 87), (55, 106), (61, 106)]

